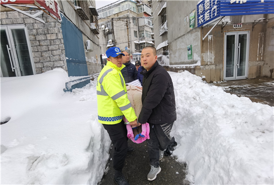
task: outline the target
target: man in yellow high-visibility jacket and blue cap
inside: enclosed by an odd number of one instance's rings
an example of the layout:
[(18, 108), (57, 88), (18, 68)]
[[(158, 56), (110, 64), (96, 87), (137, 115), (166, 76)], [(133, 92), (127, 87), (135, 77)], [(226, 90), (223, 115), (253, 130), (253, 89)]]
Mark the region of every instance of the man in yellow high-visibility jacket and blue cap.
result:
[(128, 99), (125, 80), (121, 69), (122, 55), (118, 47), (111, 47), (106, 51), (107, 65), (102, 69), (97, 80), (98, 121), (108, 131), (115, 147), (113, 154), (114, 180), (118, 185), (129, 185), (122, 169), (129, 151), (127, 128), (124, 124), (125, 116), (131, 126), (139, 126), (137, 116)]

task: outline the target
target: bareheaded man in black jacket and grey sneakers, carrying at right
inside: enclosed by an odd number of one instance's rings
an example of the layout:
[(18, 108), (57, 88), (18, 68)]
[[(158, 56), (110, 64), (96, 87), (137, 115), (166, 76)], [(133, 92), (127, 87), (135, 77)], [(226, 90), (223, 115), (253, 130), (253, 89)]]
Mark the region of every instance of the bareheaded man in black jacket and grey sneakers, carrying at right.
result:
[(139, 123), (149, 123), (150, 139), (147, 140), (150, 172), (147, 180), (153, 181), (160, 173), (160, 155), (163, 155), (171, 141), (170, 131), (176, 120), (176, 106), (173, 83), (167, 71), (158, 64), (156, 49), (147, 46), (141, 52), (144, 70), (142, 81), (142, 109)]

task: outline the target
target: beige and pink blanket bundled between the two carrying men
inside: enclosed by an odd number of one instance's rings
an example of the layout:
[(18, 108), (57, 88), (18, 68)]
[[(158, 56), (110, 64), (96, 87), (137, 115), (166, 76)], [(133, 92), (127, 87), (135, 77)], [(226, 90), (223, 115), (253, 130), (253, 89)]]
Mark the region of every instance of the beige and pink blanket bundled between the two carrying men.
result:
[[(127, 91), (128, 91), (127, 92), (128, 98), (138, 118), (142, 108), (142, 101), (141, 101), (142, 90), (138, 89), (136, 86), (128, 85)], [(128, 122), (126, 117), (124, 117), (123, 120), (125, 122)], [(135, 140), (132, 127), (130, 126), (130, 124), (127, 125), (128, 138), (131, 139), (134, 143), (142, 143), (146, 139), (149, 139), (149, 124), (148, 123), (141, 124), (141, 128), (142, 128), (141, 135), (144, 137), (139, 137), (137, 140)]]

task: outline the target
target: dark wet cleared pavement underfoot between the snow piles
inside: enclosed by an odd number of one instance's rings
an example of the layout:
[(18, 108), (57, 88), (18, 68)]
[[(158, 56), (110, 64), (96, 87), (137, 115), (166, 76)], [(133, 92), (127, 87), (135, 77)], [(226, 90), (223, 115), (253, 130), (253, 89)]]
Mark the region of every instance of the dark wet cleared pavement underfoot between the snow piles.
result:
[[(185, 180), (186, 164), (176, 161), (173, 157), (164, 156), (160, 160), (161, 172), (154, 181), (147, 180), (147, 174), (150, 170), (149, 157), (147, 152), (146, 141), (140, 144), (128, 141), (129, 146), (134, 147), (135, 151), (128, 154), (123, 169), (123, 174), (130, 185), (188, 185)], [(107, 165), (108, 171), (103, 176), (101, 183), (98, 185), (116, 185), (114, 182), (114, 169), (112, 156), (114, 147), (110, 149), (110, 161)]]

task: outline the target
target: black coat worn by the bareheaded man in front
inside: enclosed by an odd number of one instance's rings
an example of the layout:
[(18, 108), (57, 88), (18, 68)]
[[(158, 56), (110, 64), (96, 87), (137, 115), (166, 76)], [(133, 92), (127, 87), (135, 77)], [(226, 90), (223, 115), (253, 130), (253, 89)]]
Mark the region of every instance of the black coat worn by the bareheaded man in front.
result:
[(143, 80), (139, 123), (164, 124), (175, 121), (174, 88), (168, 72), (156, 61), (149, 71), (144, 69), (140, 74)]

